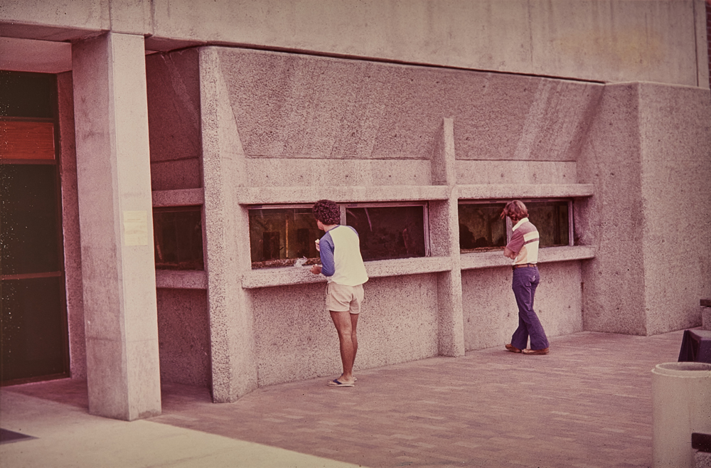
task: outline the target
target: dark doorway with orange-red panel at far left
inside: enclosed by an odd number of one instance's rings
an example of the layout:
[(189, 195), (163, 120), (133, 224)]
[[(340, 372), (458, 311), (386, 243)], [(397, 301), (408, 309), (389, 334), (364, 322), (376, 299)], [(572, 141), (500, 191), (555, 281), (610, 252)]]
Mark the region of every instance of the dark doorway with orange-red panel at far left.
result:
[(56, 90), (0, 71), (2, 385), (69, 376)]

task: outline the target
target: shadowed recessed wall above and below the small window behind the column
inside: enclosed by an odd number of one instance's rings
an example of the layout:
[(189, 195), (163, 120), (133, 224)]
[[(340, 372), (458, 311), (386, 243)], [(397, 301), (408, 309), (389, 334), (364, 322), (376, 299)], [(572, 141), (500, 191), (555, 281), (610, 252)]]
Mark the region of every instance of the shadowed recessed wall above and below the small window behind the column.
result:
[[(146, 56), (151, 188), (203, 186), (198, 51)], [(183, 199), (175, 204), (202, 204)], [(157, 292), (161, 381), (212, 385), (210, 320), (203, 289)]]

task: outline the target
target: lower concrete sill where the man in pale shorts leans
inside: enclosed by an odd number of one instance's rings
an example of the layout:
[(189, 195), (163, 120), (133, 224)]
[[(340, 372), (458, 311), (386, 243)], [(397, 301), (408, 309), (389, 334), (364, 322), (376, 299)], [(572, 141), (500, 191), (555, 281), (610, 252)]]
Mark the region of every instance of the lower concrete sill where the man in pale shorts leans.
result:
[[(242, 277), (242, 287), (253, 289), (287, 284), (326, 282), (323, 276), (309, 272), (310, 268), (310, 266), (305, 266), (252, 270)], [(371, 278), (437, 273), (451, 270), (451, 258), (422, 257), (378, 260), (365, 262), (365, 270), (368, 271), (368, 276)]]

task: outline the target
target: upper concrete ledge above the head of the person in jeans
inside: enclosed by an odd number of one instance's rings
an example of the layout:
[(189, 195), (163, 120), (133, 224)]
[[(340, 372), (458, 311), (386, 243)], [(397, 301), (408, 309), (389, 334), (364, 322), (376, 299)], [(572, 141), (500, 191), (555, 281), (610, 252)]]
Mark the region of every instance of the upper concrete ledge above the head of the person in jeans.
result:
[(460, 199), (581, 198), (593, 196), (593, 184), (479, 184), (460, 185)]

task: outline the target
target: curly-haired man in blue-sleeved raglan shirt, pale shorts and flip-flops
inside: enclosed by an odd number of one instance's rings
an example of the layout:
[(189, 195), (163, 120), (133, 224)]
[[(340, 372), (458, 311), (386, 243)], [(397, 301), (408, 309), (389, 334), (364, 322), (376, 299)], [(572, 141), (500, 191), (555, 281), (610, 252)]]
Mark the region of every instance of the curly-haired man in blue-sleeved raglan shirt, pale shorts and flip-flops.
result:
[(358, 314), (363, 303), (363, 283), (368, 281), (360, 240), (355, 229), (341, 225), (341, 208), (330, 200), (319, 200), (313, 208), (316, 225), (326, 234), (316, 240), (316, 250), (321, 252), (321, 265), (311, 267), (314, 275), (328, 278), (326, 309), (331, 314), (338, 331), (343, 373), (328, 382), (331, 387), (353, 387), (353, 363), (358, 352)]

